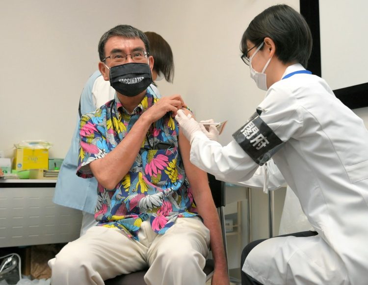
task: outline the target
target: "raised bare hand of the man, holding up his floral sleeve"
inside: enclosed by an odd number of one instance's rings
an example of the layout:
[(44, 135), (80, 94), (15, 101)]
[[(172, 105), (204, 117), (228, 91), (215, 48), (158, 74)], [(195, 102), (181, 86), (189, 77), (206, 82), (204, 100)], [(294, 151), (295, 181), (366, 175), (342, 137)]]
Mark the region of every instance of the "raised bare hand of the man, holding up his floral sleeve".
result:
[(147, 109), (141, 117), (148, 118), (151, 122), (155, 122), (161, 119), (167, 112), (172, 112), (172, 116), (174, 117), (182, 107), (186, 107), (186, 104), (181, 95), (165, 96)]

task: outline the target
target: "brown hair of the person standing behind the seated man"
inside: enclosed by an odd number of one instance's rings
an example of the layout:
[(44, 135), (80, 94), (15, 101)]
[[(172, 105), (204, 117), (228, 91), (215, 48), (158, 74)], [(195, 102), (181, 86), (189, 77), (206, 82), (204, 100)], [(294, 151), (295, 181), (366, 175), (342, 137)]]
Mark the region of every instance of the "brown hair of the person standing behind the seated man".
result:
[(173, 82), (174, 58), (169, 44), (155, 32), (145, 32), (150, 43), (150, 49), (154, 57), (154, 71), (162, 73), (166, 81)]

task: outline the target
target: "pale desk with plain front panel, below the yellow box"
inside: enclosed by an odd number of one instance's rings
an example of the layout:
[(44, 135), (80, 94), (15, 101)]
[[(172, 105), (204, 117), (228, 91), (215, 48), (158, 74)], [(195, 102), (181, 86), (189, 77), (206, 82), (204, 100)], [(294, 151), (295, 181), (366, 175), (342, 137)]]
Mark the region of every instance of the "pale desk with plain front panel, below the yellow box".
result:
[(0, 247), (66, 243), (79, 237), (80, 211), (53, 203), (56, 181), (0, 181)]

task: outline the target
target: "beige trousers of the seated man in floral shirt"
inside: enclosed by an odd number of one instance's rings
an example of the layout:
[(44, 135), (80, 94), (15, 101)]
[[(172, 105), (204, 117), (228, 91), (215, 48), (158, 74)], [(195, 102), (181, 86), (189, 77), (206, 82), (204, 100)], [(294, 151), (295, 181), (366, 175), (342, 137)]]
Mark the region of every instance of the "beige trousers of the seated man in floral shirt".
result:
[(210, 231), (198, 217), (177, 218), (164, 235), (149, 221), (139, 242), (116, 228), (92, 227), (49, 261), (53, 285), (103, 285), (104, 280), (149, 266), (148, 285), (204, 285)]

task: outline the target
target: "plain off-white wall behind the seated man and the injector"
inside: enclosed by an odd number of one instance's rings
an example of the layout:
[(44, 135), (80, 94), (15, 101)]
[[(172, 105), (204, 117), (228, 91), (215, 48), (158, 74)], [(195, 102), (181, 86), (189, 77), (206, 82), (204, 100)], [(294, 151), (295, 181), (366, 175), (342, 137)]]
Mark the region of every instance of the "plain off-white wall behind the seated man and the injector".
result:
[[(51, 157), (64, 157), (74, 130), (79, 95), (97, 69), (97, 44), (116, 24), (161, 34), (171, 45), (174, 84), (198, 119), (228, 119), (222, 142), (255, 111), (264, 92), (240, 60), (243, 31), (275, 0), (17, 0), (0, 9), (0, 150), (48, 140)], [(283, 1), (298, 9), (298, 0)], [(155, 4), (154, 4), (155, 3)]]

